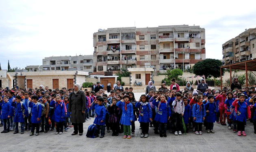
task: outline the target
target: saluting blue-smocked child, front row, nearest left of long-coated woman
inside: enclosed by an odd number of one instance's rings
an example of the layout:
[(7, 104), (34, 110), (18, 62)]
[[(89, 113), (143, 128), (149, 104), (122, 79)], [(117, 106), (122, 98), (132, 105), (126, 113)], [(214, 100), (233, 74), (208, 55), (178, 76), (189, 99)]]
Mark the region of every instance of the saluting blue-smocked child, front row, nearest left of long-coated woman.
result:
[(59, 94), (57, 94), (53, 101), (51, 101), (50, 107), (54, 107), (54, 121), (56, 122), (55, 134), (62, 134), (65, 116), (67, 115), (67, 109)]

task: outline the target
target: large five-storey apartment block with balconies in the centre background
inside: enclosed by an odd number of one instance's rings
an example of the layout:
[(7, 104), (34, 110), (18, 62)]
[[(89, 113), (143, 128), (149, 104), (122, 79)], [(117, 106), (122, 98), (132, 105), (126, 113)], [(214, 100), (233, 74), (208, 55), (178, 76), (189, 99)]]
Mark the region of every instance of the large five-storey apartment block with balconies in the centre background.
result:
[(200, 26), (108, 28), (93, 34), (94, 72), (127, 68), (193, 66), (205, 59), (205, 30)]

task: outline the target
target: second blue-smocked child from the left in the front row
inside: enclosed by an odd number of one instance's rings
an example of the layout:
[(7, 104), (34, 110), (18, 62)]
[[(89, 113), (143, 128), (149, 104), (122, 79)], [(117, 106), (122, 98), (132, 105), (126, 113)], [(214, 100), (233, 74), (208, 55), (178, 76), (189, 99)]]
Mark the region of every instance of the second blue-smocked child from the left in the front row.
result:
[(25, 120), (24, 117), (28, 115), (28, 108), (25, 106), (24, 103), (21, 102), (20, 96), (15, 96), (15, 101), (11, 104), (15, 107), (15, 116), (14, 122), (15, 124), (15, 132), (13, 134), (19, 133), (19, 122), (20, 122), (20, 130), (21, 134), (24, 134), (24, 125)]

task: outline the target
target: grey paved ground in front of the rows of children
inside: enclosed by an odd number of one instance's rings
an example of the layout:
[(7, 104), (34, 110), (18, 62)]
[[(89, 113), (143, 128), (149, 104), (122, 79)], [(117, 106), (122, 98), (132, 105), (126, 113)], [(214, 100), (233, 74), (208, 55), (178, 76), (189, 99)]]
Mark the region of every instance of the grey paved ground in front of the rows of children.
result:
[[(142, 93), (135, 93), (138, 100)], [(0, 150), (2, 152), (255, 152), (256, 134), (253, 124), (247, 121), (246, 137), (239, 137), (227, 126), (214, 123), (215, 133), (195, 135), (191, 130), (187, 135), (175, 136), (167, 132), (167, 137), (155, 135), (153, 128), (149, 130), (148, 138), (140, 138), (139, 122), (135, 122), (135, 137), (122, 139), (123, 134), (112, 137), (112, 132), (106, 133), (104, 138), (87, 138), (88, 126), (93, 119), (84, 123), (82, 136), (71, 134), (74, 129), (62, 135), (55, 135), (55, 131), (40, 133), (39, 136), (29, 136), (30, 131), (20, 133), (0, 133)], [(20, 129), (20, 128), (19, 128)], [(3, 127), (0, 127), (0, 131)]]

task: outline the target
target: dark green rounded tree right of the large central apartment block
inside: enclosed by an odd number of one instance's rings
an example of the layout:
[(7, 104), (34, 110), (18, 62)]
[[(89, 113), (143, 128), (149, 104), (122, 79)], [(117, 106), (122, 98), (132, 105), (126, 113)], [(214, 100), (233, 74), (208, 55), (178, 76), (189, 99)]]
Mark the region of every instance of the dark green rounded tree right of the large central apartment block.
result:
[[(210, 77), (220, 77), (220, 67), (222, 62), (216, 59), (205, 59), (203, 61), (197, 62), (193, 66), (193, 73), (195, 75), (204, 75), (205, 78)], [(222, 72), (224, 75), (224, 71)]]

